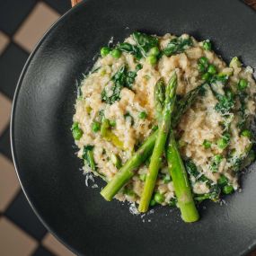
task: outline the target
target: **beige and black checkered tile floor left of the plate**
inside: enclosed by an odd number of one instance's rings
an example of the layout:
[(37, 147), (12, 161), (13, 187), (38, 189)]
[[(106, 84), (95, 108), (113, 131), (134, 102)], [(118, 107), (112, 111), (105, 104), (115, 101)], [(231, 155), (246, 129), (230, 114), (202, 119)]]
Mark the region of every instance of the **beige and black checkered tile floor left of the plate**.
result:
[[(0, 255), (74, 255), (48, 233), (25, 199), (12, 163), (9, 122), (13, 93), (42, 34), (70, 0), (0, 0)], [(254, 254), (255, 253), (255, 254)], [(256, 252), (252, 255), (256, 256)]]

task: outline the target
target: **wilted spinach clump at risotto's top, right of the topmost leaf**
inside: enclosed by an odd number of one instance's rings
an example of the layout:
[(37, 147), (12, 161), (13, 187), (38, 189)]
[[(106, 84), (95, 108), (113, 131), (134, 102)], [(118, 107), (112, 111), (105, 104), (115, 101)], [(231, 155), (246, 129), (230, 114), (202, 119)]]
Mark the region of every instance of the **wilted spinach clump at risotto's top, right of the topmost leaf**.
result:
[(168, 43), (165, 49), (163, 49), (163, 54), (170, 57), (171, 55), (178, 54), (189, 49), (192, 45), (193, 42), (190, 38), (175, 38)]

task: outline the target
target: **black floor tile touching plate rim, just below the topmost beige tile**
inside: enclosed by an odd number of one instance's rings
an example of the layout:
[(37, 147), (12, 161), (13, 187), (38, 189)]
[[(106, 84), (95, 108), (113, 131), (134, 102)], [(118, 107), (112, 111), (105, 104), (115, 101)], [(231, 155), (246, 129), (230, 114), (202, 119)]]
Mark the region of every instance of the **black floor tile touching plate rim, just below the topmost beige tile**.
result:
[(29, 54), (14, 43), (11, 43), (0, 57), (0, 91), (11, 99), (28, 57)]

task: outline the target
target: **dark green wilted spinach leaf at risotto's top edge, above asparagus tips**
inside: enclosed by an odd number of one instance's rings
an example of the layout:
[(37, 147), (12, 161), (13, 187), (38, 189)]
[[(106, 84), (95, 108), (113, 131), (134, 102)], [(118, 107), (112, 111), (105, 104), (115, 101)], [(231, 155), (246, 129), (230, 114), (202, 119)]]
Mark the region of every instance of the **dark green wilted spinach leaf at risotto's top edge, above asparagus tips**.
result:
[(140, 49), (141, 55), (146, 57), (147, 52), (158, 47), (158, 39), (154, 36), (147, 35), (141, 32), (134, 32), (132, 34), (133, 39), (137, 42), (137, 47)]

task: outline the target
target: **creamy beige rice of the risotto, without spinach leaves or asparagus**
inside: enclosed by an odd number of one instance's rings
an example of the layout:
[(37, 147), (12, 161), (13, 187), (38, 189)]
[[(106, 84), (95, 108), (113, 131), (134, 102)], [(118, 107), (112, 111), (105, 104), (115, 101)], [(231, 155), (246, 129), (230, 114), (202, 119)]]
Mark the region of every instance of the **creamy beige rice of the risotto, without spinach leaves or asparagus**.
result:
[[(181, 38), (188, 38), (189, 35), (182, 35)], [(159, 37), (159, 48), (166, 48), (170, 40), (176, 38), (171, 34)], [(181, 156), (184, 161), (192, 161), (198, 169), (199, 176), (204, 175), (207, 181), (201, 181), (190, 175), (192, 190), (197, 195), (209, 193), (211, 186), (216, 184), (220, 175), (225, 175), (234, 190), (239, 188), (238, 175), (234, 172), (232, 159), (244, 159), (252, 146), (252, 137), (242, 135), (242, 128), (239, 127), (241, 119), (241, 102), (236, 96), (234, 108), (228, 113), (221, 113), (216, 110), (218, 99), (212, 86), (217, 86), (219, 94), (224, 93), (224, 88), (229, 88), (234, 93), (239, 93), (237, 84), (240, 79), (246, 79), (249, 86), (245, 89), (246, 102), (244, 103), (243, 115), (246, 121), (251, 122), (255, 113), (255, 93), (256, 84), (252, 77), (252, 68), (237, 65), (237, 63), (227, 66), (221, 57), (217, 56), (213, 50), (206, 50), (203, 42), (194, 38), (192, 46), (181, 53), (169, 57), (163, 55), (156, 65), (148, 63), (145, 57), (137, 60), (132, 54), (122, 52), (119, 58), (108, 54), (99, 57), (93, 66), (95, 72), (87, 75), (81, 84), (81, 95), (75, 102), (74, 122), (83, 131), (83, 136), (75, 140), (78, 146), (78, 156), (83, 158), (84, 146), (93, 146), (93, 158), (97, 166), (97, 173), (105, 176), (106, 181), (110, 181), (119, 172), (119, 169), (111, 161), (112, 154), (118, 155), (121, 163), (125, 163), (136, 150), (137, 145), (148, 137), (154, 125), (156, 125), (154, 112), (154, 85), (163, 77), (165, 83), (170, 79), (172, 71), (175, 69), (178, 75), (177, 94), (183, 97), (194, 88), (203, 84), (202, 75), (199, 72), (199, 58), (207, 57), (209, 64), (216, 66), (217, 73), (229, 74), (227, 84), (207, 84), (204, 86), (204, 93), (189, 110), (181, 117), (180, 123), (175, 128), (176, 139), (180, 145)], [(125, 40), (135, 45), (136, 41), (132, 36)], [(113, 93), (111, 88), (113, 81), (111, 78), (122, 66), (127, 66), (129, 71), (136, 70), (137, 64), (142, 68), (137, 71), (137, 76), (132, 84), (132, 88), (123, 87), (119, 100), (112, 104), (102, 101), (102, 91), (107, 94)], [(110, 128), (110, 132), (118, 137), (121, 146), (115, 146), (110, 139), (102, 137), (101, 132), (93, 132), (93, 122), (101, 123), (99, 111), (103, 110), (105, 119), (115, 120), (115, 126)], [(139, 118), (141, 112), (146, 113), (146, 118)], [(249, 120), (249, 121), (248, 121)], [(228, 128), (225, 127), (228, 123)], [(247, 124), (249, 128), (250, 125)], [(230, 135), (228, 146), (220, 148), (217, 142), (227, 132)], [(204, 146), (204, 142), (209, 142), (210, 147)], [(230, 156), (232, 154), (232, 157)], [(211, 167), (216, 155), (221, 155), (215, 172)], [(242, 165), (239, 166), (242, 168)], [(239, 169), (240, 169), (239, 168)], [(92, 170), (84, 164), (84, 172)], [(146, 164), (143, 164), (136, 175), (128, 182), (125, 189), (120, 190), (116, 199), (138, 202), (143, 190), (144, 181), (140, 179), (141, 174), (148, 171)], [(164, 181), (163, 177), (168, 177), (168, 169), (163, 160), (163, 167), (159, 172), (155, 191), (164, 195), (163, 205), (167, 205), (175, 198), (172, 180)], [(127, 192), (129, 191), (129, 192)], [(131, 192), (132, 191), (132, 192)]]

